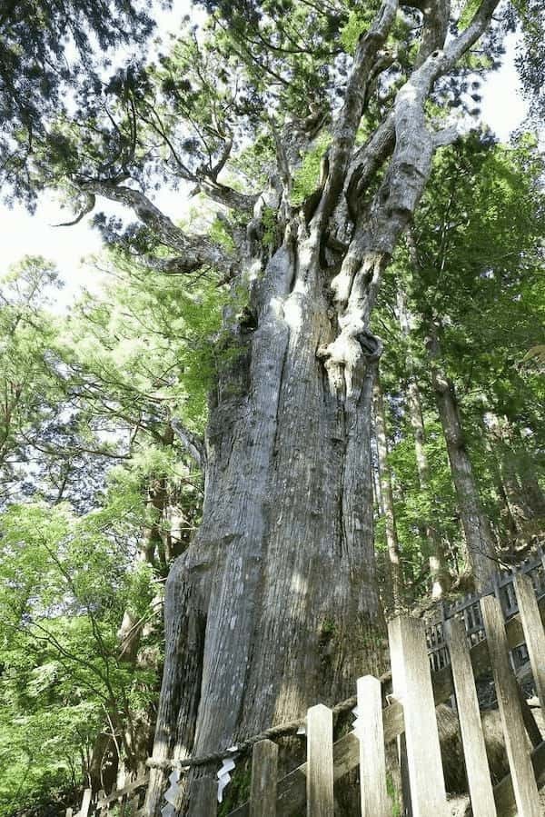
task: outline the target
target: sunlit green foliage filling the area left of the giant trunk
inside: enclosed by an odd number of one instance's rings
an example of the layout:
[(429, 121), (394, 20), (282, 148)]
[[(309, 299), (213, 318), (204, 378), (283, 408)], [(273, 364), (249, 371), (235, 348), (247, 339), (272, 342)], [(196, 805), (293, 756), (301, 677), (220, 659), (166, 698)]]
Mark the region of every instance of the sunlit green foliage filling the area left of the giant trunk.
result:
[[(16, 386), (18, 402), (5, 417), (0, 462), (9, 487), (0, 520), (0, 750), (12, 747), (0, 755), (0, 814), (13, 802), (56, 798), (65, 807), (106, 712), (123, 734), (154, 704), (158, 580), (200, 513), (201, 476), (165, 429), (171, 417), (203, 428), (227, 295), (205, 278), (179, 291), (175, 279), (150, 278), (124, 257), (108, 263), (103, 294), (84, 296), (65, 319), (47, 311), (56, 279), (43, 259), (26, 259), (3, 283), (3, 388)], [(72, 457), (86, 451), (96, 472), (99, 490), (85, 507), (15, 503), (26, 468), (19, 477), (10, 457), (37, 452), (38, 471), (49, 472), (64, 445)], [(184, 525), (173, 553), (170, 523), (150, 501), (156, 486)], [(33, 496), (47, 499), (42, 487)], [(120, 652), (126, 615), (147, 625), (142, 663)]]

